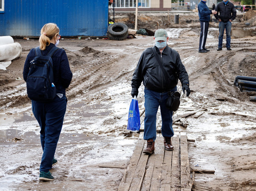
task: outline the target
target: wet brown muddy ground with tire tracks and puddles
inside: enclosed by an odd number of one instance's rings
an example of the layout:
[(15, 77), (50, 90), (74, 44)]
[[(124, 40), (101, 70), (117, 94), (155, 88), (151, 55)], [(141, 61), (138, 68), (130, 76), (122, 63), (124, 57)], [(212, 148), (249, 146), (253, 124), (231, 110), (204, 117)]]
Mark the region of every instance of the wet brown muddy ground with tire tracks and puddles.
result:
[[(185, 132), (195, 140), (189, 142), (192, 168), (215, 170), (214, 174), (197, 173), (193, 190), (256, 190), (256, 103), (249, 102), (249, 96), (255, 95), (240, 92), (233, 85), (237, 75), (255, 76), (256, 37), (232, 37), (232, 51), (225, 47), (216, 51), (218, 28), (212, 22), (206, 42), (210, 52), (202, 54), (198, 53), (197, 13), (180, 14), (188, 21), (178, 25), (171, 17), (174, 15), (170, 15), (168, 25), (163, 22), (168, 20), (165, 14), (154, 15), (161, 25), (139, 22), (138, 26), (168, 30), (168, 46), (180, 53), (189, 73), (191, 94), (182, 95), (181, 106), (174, 114), (174, 119), (186, 119), (188, 126), (176, 124), (174, 131)], [(248, 26), (238, 20), (232, 27), (254, 30), (252, 26), (253, 21)], [(61, 40), (59, 47), (66, 50), (74, 76), (67, 89), (67, 112), (55, 154), (58, 164), (51, 170), (55, 178), (52, 182), (38, 180), (40, 127), (22, 78), (27, 54), (39, 43), (37, 39), (14, 40), (21, 44), (22, 55), (7, 70), (0, 70), (0, 190), (118, 189), (139, 136), (126, 130), (131, 78), (142, 51), (154, 45), (150, 36), (136, 37), (123, 41)], [(178, 90), (181, 92), (180, 83)], [(141, 86), (140, 111), (144, 108), (143, 96)], [(161, 124), (160, 118), (157, 124)]]

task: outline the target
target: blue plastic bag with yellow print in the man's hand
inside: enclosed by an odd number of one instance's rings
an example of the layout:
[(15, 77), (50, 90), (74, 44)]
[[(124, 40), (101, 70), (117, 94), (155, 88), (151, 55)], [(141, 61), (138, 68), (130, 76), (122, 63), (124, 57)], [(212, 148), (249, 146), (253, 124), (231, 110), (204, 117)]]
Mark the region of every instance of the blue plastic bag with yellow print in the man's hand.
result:
[(132, 132), (139, 132), (141, 127), (139, 104), (136, 96), (131, 101), (128, 115), (127, 129)]

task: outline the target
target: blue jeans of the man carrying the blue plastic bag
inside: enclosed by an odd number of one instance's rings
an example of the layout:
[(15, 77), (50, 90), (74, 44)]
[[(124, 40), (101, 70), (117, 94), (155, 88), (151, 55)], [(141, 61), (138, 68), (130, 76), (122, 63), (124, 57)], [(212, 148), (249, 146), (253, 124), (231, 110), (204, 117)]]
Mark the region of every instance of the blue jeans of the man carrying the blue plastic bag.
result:
[[(171, 91), (176, 91), (172, 89)], [(172, 128), (172, 114), (173, 112), (166, 108), (166, 102), (168, 99), (168, 93), (158, 93), (147, 89), (144, 89), (145, 97), (145, 119), (144, 119), (144, 140), (156, 139), (156, 114), (158, 107), (161, 109), (162, 117), (162, 136), (172, 137), (174, 135)]]

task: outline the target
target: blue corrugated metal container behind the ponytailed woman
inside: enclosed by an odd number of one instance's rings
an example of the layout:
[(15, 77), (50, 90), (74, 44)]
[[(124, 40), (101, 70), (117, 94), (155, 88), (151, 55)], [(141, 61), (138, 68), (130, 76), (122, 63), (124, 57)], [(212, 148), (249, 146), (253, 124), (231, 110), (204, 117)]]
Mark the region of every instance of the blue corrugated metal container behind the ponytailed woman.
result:
[(61, 36), (107, 36), (108, 0), (0, 0), (0, 36), (39, 37), (56, 23)]

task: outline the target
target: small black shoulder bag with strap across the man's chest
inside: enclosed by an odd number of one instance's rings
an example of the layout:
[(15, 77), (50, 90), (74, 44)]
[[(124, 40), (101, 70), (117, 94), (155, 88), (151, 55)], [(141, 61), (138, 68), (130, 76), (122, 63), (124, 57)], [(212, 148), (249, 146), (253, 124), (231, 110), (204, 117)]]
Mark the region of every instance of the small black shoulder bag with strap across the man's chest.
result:
[[(153, 49), (154, 56), (156, 57), (156, 59), (158, 61), (158, 64), (160, 65), (160, 68), (162, 70), (163, 76), (168, 81), (167, 73), (164, 70), (164, 68), (162, 66), (162, 62), (159, 59), (159, 57), (158, 57), (158, 55), (157, 55), (157, 53), (155, 51), (155, 47), (153, 47), (152, 49)], [(180, 106), (180, 103), (181, 103), (180, 102), (180, 97), (181, 97), (180, 92), (178, 92), (178, 91), (173, 91), (173, 92), (168, 91), (168, 99), (167, 99), (167, 102), (166, 102), (166, 107), (169, 110), (171, 110), (171, 111), (177, 111), (179, 106)]]

